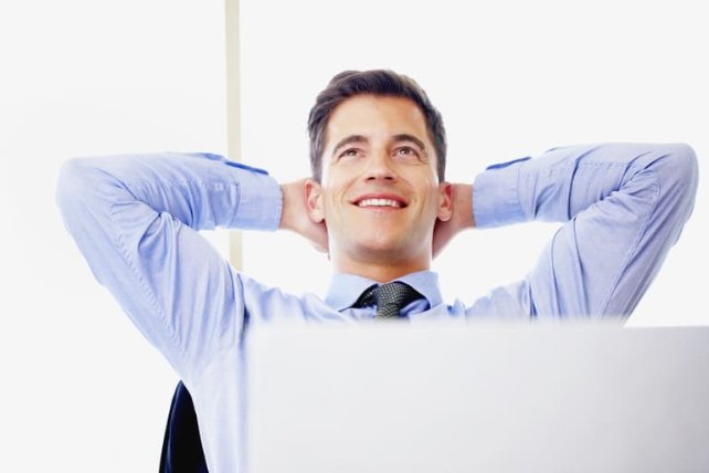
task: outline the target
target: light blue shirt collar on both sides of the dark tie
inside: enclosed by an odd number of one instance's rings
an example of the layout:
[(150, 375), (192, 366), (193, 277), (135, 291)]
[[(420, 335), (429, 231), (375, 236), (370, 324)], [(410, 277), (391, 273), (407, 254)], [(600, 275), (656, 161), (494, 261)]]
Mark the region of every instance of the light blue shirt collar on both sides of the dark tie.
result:
[[(438, 275), (432, 271), (419, 271), (393, 281), (401, 281), (419, 291), (428, 301), (431, 307), (443, 302), (438, 287)], [(372, 284), (379, 283), (356, 274), (337, 273), (332, 275), (325, 302), (336, 311), (343, 311), (351, 307), (362, 292)]]

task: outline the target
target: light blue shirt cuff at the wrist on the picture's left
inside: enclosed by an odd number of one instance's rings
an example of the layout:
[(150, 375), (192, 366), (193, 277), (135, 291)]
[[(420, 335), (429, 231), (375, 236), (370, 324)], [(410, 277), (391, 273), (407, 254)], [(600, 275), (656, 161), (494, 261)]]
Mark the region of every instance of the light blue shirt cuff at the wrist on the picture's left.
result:
[(239, 209), (231, 227), (242, 230), (277, 230), (283, 211), (281, 186), (257, 169), (242, 168), (239, 176)]

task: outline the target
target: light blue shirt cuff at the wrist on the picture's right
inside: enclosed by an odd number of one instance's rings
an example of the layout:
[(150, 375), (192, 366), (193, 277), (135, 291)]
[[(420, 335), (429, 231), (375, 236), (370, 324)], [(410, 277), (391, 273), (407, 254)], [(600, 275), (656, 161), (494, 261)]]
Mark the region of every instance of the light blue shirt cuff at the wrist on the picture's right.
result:
[(488, 167), (473, 185), (475, 227), (495, 228), (527, 220), (519, 201), (519, 168), (530, 158), (516, 159)]

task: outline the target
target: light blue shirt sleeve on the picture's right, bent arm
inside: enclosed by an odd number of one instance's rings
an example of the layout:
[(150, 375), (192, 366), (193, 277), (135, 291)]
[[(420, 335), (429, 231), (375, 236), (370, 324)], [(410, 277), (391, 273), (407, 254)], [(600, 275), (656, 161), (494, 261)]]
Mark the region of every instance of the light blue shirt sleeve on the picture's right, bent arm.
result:
[(697, 181), (682, 144), (562, 147), (489, 167), (474, 185), (478, 228), (563, 222), (526, 280), (493, 294), (530, 317), (629, 315), (679, 238)]

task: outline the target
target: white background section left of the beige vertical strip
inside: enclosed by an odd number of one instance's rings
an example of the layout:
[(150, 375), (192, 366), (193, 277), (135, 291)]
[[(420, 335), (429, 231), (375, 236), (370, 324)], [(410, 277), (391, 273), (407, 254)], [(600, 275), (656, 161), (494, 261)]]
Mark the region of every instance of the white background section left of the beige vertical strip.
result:
[(71, 156), (225, 151), (223, 2), (1, 10), (0, 471), (157, 472), (178, 378), (93, 278), (54, 191)]

